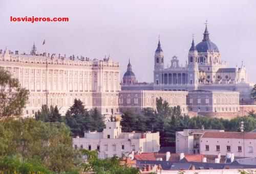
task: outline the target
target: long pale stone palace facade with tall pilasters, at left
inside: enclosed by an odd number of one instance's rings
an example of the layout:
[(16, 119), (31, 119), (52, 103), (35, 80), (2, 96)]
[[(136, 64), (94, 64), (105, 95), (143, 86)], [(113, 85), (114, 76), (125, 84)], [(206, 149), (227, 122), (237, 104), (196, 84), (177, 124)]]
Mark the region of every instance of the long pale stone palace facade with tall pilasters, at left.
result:
[(34, 45), (30, 55), (0, 51), (0, 67), (30, 92), (24, 116), (33, 116), (44, 104), (57, 105), (64, 115), (75, 98), (88, 109), (97, 107), (103, 114), (119, 113), (119, 63), (110, 58), (38, 55), (35, 49)]

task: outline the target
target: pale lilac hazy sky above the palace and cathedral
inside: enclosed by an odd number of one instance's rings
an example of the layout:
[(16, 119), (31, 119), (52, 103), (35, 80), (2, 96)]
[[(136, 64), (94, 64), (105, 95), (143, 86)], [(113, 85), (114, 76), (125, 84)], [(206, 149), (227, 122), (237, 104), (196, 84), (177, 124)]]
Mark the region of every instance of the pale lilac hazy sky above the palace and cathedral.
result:
[[(69, 17), (69, 22), (10, 22), (10, 16)], [(141, 0), (0, 0), (0, 48), (29, 53), (36, 43), (50, 53), (103, 58), (120, 63), (121, 76), (130, 58), (138, 81), (153, 81), (158, 35), (165, 65), (176, 55), (187, 60), (192, 35), (203, 37), (208, 20), (210, 39), (228, 66), (244, 61), (256, 82), (256, 1)]]

